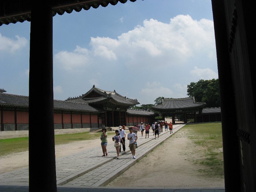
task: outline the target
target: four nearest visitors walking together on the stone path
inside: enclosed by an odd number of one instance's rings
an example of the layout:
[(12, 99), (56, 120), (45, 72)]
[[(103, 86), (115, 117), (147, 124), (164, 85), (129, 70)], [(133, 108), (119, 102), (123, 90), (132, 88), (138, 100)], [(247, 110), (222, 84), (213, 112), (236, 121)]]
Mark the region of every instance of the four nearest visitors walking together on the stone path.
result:
[[(136, 144), (137, 144), (137, 139), (138, 136), (137, 134), (135, 134), (133, 132), (132, 127), (129, 128), (129, 132), (127, 134), (127, 139), (129, 140), (129, 148), (132, 152), (132, 157), (133, 159), (136, 159), (135, 157), (135, 149), (136, 149)], [(112, 140), (115, 141), (114, 142), (114, 147), (116, 148), (116, 154), (117, 154), (117, 159), (119, 159), (119, 153), (121, 152), (121, 143), (123, 144), (123, 151), (125, 151), (125, 137), (126, 137), (126, 133), (125, 133), (125, 126), (119, 126), (119, 130), (115, 131), (116, 135), (114, 137), (112, 137)], [(102, 152), (103, 155), (102, 156), (108, 156), (107, 153), (107, 145), (108, 145), (108, 140), (107, 140), (107, 129), (103, 128), (102, 129), (102, 133), (100, 135), (100, 140), (101, 140), (101, 148), (102, 148)]]

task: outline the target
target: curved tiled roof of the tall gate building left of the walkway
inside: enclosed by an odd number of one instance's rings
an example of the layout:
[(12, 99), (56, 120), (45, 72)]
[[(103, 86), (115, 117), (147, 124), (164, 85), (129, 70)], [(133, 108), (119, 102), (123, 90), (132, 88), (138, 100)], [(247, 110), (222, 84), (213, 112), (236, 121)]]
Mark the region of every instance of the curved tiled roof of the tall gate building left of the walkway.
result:
[[(93, 97), (88, 98), (90, 94), (93, 92), (97, 93), (101, 97)], [(76, 98), (69, 98), (68, 101), (73, 102), (82, 102), (82, 103), (89, 103), (89, 104), (100, 104), (103, 102), (111, 102), (116, 105), (124, 105), (124, 106), (133, 106), (140, 104), (137, 99), (129, 99), (120, 94), (118, 94), (115, 90), (114, 91), (105, 91), (95, 86), (92, 87), (88, 92), (83, 94), (82, 96)]]

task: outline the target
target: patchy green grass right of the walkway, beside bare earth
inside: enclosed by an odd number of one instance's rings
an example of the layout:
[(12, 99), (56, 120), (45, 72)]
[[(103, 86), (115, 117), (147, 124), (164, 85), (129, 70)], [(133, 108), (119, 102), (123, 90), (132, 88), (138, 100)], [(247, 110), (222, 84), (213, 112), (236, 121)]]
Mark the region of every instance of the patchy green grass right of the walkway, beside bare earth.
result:
[(204, 170), (205, 174), (224, 175), (221, 123), (191, 124), (182, 129), (187, 130), (188, 139), (201, 147), (195, 153), (202, 158), (193, 162), (207, 166), (209, 169)]

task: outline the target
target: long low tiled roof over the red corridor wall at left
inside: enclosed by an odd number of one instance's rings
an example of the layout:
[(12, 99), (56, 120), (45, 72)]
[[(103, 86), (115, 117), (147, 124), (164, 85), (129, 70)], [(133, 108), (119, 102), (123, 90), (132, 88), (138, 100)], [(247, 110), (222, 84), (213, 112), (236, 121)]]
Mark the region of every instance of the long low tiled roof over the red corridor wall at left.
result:
[[(28, 108), (28, 96), (0, 93), (1, 107)], [(86, 113), (104, 113), (103, 110), (89, 106), (87, 103), (53, 100), (54, 110), (76, 111)]]

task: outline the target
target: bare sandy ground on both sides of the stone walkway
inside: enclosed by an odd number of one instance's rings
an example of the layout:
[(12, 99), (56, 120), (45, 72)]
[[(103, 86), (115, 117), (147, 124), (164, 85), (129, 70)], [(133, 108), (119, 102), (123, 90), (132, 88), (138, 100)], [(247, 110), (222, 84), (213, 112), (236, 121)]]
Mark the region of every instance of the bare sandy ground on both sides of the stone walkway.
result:
[[(185, 135), (185, 130), (180, 129), (108, 186), (224, 188), (223, 177), (210, 177), (199, 172), (209, 168), (193, 163), (200, 158), (195, 152), (201, 148), (195, 146)], [(99, 145), (99, 139), (57, 145), (56, 158), (96, 148)], [(0, 174), (26, 167), (28, 151), (2, 157), (0, 164)]]

